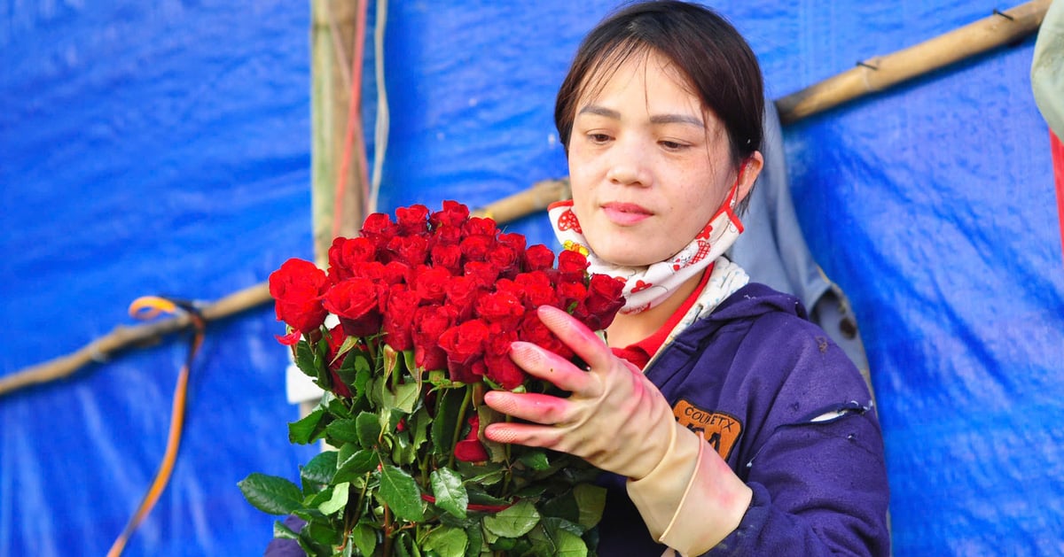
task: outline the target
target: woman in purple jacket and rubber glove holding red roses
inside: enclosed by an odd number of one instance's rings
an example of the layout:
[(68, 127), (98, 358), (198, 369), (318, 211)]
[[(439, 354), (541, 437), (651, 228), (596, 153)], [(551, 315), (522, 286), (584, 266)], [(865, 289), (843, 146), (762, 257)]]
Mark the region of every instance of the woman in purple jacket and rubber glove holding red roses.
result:
[(793, 297), (721, 254), (763, 158), (758, 62), (722, 18), (631, 5), (584, 39), (558, 96), (572, 200), (560, 240), (626, 280), (603, 343), (539, 317), (587, 362), (530, 343), (512, 359), (568, 398), (492, 391), (523, 422), (499, 442), (610, 472), (599, 554), (886, 555), (888, 491), (871, 396)]

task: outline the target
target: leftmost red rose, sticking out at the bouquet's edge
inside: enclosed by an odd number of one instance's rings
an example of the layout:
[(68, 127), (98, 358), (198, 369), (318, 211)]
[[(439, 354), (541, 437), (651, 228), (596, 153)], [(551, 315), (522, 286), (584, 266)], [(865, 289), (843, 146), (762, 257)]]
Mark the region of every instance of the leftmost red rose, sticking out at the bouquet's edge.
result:
[(328, 311), (321, 305), (321, 294), (328, 289), (325, 271), (304, 259), (288, 259), (269, 275), (269, 294), (278, 321), (299, 333), (315, 331), (326, 320)]

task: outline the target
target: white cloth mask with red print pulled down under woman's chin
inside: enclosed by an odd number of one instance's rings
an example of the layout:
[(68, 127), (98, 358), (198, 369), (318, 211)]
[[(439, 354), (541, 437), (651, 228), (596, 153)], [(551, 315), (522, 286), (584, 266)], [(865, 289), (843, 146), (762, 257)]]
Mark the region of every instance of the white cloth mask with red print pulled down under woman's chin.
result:
[(724, 255), (743, 233), (743, 223), (733, 212), (737, 186), (736, 181), (724, 206), (695, 236), (695, 239), (691, 240), (691, 243), (668, 259), (646, 267), (621, 267), (596, 255), (587, 244), (577, 215), (572, 213), (572, 200), (552, 203), (547, 213), (550, 224), (554, 227), (554, 235), (562, 242), (562, 247), (587, 256), (589, 264), (587, 272), (625, 280), (625, 306), (620, 313), (638, 314), (662, 303), (677, 287), (701, 273), (711, 263)]

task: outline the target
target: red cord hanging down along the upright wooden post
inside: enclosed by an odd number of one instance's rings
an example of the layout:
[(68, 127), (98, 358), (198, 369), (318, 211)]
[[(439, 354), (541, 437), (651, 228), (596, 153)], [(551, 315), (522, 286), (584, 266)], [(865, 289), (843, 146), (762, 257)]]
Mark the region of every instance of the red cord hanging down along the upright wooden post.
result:
[(359, 16), (354, 31), (354, 55), (351, 57), (351, 92), (347, 106), (347, 130), (344, 134), (344, 154), (340, 158), (339, 174), (336, 176), (336, 196), (333, 200), (332, 235), (339, 236), (344, 215), (344, 193), (347, 189), (347, 169), (351, 166), (351, 147), (358, 149), (360, 174), (362, 179), (362, 209), (365, 212), (369, 199), (369, 170), (366, 168), (366, 141), (362, 128), (362, 65), (366, 43), (366, 17), (368, 0), (359, 0)]

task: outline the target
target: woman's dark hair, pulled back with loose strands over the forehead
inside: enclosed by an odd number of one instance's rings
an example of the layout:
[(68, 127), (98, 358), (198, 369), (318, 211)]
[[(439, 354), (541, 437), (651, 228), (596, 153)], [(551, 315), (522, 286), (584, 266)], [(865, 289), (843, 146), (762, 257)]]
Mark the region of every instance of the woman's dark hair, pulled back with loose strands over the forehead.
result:
[(614, 13), (584, 37), (554, 104), (565, 151), (577, 102), (592, 75), (605, 83), (629, 56), (656, 52), (686, 74), (705, 108), (725, 125), (733, 163), (761, 149), (765, 108), (761, 67), (738, 31), (716, 12), (680, 1), (641, 2)]

